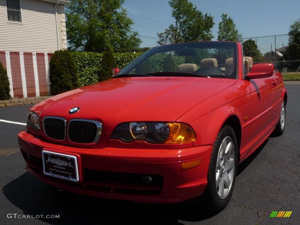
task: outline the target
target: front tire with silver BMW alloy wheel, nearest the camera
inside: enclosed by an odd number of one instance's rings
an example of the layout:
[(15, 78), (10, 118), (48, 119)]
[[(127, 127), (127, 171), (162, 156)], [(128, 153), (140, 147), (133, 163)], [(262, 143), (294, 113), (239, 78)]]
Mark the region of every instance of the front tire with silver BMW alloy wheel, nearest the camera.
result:
[(203, 200), (209, 210), (221, 211), (228, 204), (235, 184), (237, 166), (238, 147), (235, 133), (231, 126), (226, 125), (217, 136), (208, 167), (207, 187)]

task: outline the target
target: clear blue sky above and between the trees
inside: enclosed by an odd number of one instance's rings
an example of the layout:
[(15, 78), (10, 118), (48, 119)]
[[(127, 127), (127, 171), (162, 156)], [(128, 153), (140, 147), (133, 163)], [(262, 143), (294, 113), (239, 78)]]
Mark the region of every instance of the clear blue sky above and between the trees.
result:
[[(215, 25), (212, 33), (217, 38), (218, 24), (222, 13), (232, 17), (243, 38), (287, 34), (289, 26), (300, 19), (300, 0), (213, 0), (192, 1), (203, 14), (214, 16)], [(140, 35), (154, 37), (140, 37), (141, 47), (156, 45), (157, 33), (163, 32), (174, 20), (171, 7), (167, 0), (125, 0), (123, 7), (128, 16), (134, 20), (132, 28)], [(255, 39), (254, 39), (255, 40)], [(278, 36), (276, 45), (280, 48), (286, 45), (288, 36)], [(262, 53), (274, 50), (274, 37), (257, 38), (257, 45)]]

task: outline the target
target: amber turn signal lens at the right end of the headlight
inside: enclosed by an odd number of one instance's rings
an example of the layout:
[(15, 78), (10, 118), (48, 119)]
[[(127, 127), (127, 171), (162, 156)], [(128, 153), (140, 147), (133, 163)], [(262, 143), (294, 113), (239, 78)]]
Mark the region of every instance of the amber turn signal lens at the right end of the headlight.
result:
[(184, 123), (168, 123), (168, 125), (170, 128), (170, 134), (164, 143), (180, 144), (196, 140), (196, 134), (189, 125)]

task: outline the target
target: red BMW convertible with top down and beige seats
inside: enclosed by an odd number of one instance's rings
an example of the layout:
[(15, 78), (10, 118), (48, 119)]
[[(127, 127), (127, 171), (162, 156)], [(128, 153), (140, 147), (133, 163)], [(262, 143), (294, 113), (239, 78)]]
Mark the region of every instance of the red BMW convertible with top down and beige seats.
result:
[(238, 164), (283, 133), (286, 101), (281, 73), (239, 43), (171, 44), (36, 104), (18, 141), (29, 172), (61, 189), (153, 203), (202, 195), (220, 211)]

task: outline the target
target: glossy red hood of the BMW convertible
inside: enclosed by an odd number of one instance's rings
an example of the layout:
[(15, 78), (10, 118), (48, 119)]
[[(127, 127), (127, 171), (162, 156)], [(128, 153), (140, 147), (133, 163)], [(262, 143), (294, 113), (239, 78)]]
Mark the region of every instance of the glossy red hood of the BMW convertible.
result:
[[(32, 111), (44, 116), (129, 121), (176, 121), (185, 112), (228, 88), (235, 79), (126, 77), (81, 87), (49, 98)], [(73, 107), (77, 113), (69, 114)]]

